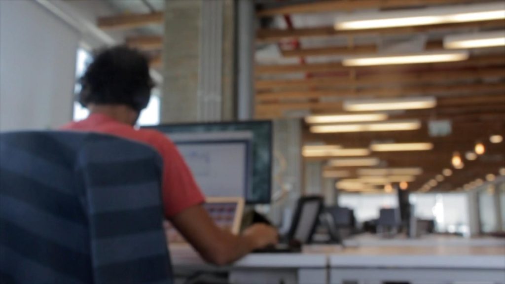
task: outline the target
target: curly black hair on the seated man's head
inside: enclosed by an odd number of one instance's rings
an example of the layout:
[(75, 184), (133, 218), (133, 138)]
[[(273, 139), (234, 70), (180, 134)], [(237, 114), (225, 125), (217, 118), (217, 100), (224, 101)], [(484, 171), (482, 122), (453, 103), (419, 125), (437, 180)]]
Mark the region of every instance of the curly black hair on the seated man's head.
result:
[(154, 87), (147, 58), (124, 45), (95, 53), (80, 83), (82, 106), (127, 105), (138, 112), (147, 106)]

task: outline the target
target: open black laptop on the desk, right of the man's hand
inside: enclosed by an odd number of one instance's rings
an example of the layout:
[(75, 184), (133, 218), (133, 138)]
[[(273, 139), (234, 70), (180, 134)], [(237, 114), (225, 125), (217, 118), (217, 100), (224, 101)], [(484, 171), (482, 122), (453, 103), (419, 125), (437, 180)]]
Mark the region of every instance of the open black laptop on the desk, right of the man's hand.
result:
[(320, 196), (301, 197), (291, 221), (289, 231), (279, 244), (254, 253), (297, 253), (302, 245), (311, 243), (312, 236), (319, 222), (319, 215), (323, 209), (323, 198)]

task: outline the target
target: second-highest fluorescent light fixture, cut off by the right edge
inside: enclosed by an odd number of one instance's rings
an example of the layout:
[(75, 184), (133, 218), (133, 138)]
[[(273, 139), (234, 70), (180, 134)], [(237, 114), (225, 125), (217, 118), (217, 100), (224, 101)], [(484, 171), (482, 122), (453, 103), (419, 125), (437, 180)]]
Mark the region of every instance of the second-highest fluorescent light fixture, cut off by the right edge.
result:
[(505, 46), (505, 30), (448, 35), (443, 39), (446, 49), (475, 49)]

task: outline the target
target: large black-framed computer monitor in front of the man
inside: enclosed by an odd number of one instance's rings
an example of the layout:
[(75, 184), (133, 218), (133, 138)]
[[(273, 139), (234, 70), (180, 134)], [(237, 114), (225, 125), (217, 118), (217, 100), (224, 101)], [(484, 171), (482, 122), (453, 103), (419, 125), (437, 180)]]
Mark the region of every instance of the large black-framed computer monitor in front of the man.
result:
[(271, 121), (149, 126), (170, 137), (208, 197), (240, 197), (247, 204), (271, 199)]

